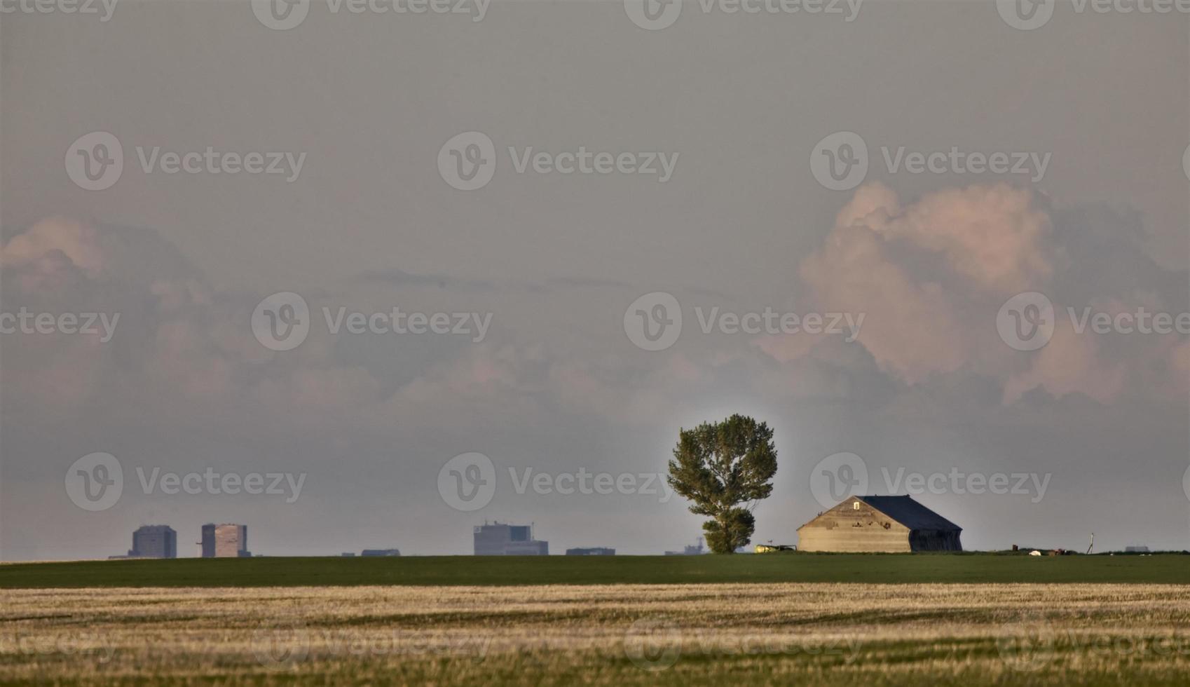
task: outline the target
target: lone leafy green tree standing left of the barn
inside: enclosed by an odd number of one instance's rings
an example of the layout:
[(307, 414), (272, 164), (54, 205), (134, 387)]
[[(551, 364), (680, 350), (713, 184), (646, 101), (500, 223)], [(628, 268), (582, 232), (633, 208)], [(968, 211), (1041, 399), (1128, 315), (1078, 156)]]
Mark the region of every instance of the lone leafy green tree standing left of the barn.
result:
[(691, 513), (712, 518), (702, 525), (707, 547), (715, 554), (733, 554), (752, 538), (752, 508), (772, 493), (775, 474), (772, 430), (737, 414), (721, 423), (678, 430), (666, 481), (694, 501)]

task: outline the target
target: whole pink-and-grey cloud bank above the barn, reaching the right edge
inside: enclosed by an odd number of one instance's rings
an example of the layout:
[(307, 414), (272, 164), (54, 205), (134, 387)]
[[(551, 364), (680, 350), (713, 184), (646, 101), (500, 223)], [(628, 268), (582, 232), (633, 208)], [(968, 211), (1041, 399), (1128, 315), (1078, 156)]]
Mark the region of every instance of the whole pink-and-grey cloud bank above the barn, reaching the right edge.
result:
[[(1002, 385), (1004, 402), (1034, 388), (1101, 402), (1134, 392), (1184, 393), (1186, 354), (1177, 335), (1073, 330), (1067, 307), (1175, 314), (1184, 307), (1184, 298), (1161, 292), (1184, 287), (1185, 275), (1145, 257), (1134, 226), (1106, 230), (1104, 217), (1088, 208), (1063, 214), (1038, 193), (1004, 183), (908, 202), (871, 183), (840, 210), (821, 248), (801, 262), (800, 276), (816, 308), (866, 314), (860, 344), (881, 370), (907, 385), (976, 373)], [(1092, 231), (1079, 232), (1081, 225)], [(1127, 261), (1128, 274), (1152, 276), (1123, 281), (1110, 269), (1113, 255)], [(1029, 291), (1051, 296), (1057, 330), (1042, 350), (1015, 351), (1000, 339), (995, 317), (1008, 298)], [(1079, 301), (1089, 294), (1096, 298)], [(816, 351), (804, 337), (764, 337), (758, 345), (787, 363)]]

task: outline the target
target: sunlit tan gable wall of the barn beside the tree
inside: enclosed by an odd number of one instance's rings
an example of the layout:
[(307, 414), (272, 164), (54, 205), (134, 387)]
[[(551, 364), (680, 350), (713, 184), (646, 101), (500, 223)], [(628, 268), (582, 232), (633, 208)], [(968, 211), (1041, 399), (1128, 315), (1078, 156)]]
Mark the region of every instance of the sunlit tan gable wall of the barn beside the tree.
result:
[(909, 530), (863, 501), (847, 500), (797, 530), (800, 551), (908, 552)]

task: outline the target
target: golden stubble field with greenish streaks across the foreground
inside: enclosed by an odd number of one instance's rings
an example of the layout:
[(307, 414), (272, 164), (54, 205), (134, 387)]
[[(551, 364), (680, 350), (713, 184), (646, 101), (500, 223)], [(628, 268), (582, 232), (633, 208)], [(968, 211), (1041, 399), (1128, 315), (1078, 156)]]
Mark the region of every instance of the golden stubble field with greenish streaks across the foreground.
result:
[(1190, 587), (0, 591), (4, 683), (1179, 685)]

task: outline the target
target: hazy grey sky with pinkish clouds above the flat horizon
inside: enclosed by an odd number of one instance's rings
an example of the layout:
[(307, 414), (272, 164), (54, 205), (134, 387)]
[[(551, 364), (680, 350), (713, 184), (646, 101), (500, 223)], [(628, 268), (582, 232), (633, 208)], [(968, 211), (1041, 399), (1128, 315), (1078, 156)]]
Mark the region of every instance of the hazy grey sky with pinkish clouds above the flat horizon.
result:
[(754, 543), (850, 488), (1190, 548), (1180, 10), (39, 7), (0, 2), (0, 560), (658, 554), (679, 429), (733, 413)]

